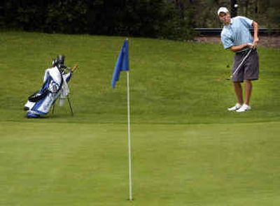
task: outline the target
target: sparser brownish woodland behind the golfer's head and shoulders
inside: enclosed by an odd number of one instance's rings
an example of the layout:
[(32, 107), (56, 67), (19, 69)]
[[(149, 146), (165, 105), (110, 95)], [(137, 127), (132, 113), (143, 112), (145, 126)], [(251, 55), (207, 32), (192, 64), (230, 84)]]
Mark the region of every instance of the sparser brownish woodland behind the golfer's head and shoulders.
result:
[[(190, 2), (182, 0), (185, 4)], [(231, 8), (229, 0), (194, 0), (195, 27), (219, 27), (220, 22), (216, 11), (220, 6)], [(250, 17), (258, 22), (262, 28), (279, 28), (280, 1), (279, 0), (237, 0), (237, 15)], [(232, 11), (232, 10), (231, 10)]]

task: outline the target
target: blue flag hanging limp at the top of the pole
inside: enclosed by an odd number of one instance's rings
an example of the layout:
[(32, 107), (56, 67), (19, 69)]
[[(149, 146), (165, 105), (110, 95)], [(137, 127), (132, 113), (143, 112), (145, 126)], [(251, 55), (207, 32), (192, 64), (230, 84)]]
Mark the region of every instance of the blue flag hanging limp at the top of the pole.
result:
[(116, 62), (115, 70), (113, 72), (112, 78), (112, 87), (115, 88), (116, 82), (120, 76), (120, 71), (129, 71), (128, 64), (128, 39), (123, 43), (123, 47), (120, 50), (120, 54), (118, 54), (118, 60)]

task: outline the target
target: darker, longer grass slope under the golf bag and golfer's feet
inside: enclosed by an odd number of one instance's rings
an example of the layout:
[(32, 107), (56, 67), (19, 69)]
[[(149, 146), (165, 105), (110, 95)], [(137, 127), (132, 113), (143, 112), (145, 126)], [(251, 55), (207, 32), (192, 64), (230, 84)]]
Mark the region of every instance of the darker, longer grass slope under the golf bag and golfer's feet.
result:
[[(57, 54), (80, 70), (71, 80), (76, 117), (55, 122), (124, 123), (126, 74), (117, 89), (111, 76), (124, 38), (1, 33), (0, 120), (22, 119), (26, 98), (41, 87), (45, 68)], [(135, 123), (269, 122), (280, 119), (280, 50), (260, 48), (260, 80), (253, 84), (253, 112), (236, 115), (226, 66), (232, 54), (221, 45), (130, 39), (132, 121)], [(59, 115), (64, 115), (61, 112)], [(253, 117), (253, 118), (252, 118)], [(66, 118), (66, 119), (65, 119)], [(45, 120), (43, 120), (45, 121)], [(53, 120), (48, 120), (52, 122)]]

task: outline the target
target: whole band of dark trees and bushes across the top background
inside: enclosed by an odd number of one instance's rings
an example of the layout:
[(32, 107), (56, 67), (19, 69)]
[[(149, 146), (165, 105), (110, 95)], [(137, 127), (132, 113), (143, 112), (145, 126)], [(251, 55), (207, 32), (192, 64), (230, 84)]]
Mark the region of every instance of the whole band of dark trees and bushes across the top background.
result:
[(279, 0), (4, 0), (0, 28), (187, 40), (195, 27), (221, 27), (220, 6), (279, 28)]

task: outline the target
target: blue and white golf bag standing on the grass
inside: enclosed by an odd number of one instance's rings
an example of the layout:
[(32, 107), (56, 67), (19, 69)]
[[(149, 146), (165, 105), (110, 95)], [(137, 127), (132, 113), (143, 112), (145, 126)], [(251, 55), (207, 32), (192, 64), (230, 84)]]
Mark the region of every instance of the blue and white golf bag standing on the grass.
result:
[(68, 83), (71, 80), (73, 71), (63, 65), (64, 57), (63, 61), (60, 62), (57, 62), (57, 59), (52, 61), (52, 68), (45, 70), (41, 89), (29, 96), (25, 104), (27, 118), (38, 118), (41, 115), (47, 115), (58, 98), (59, 106), (62, 106), (68, 96)]

